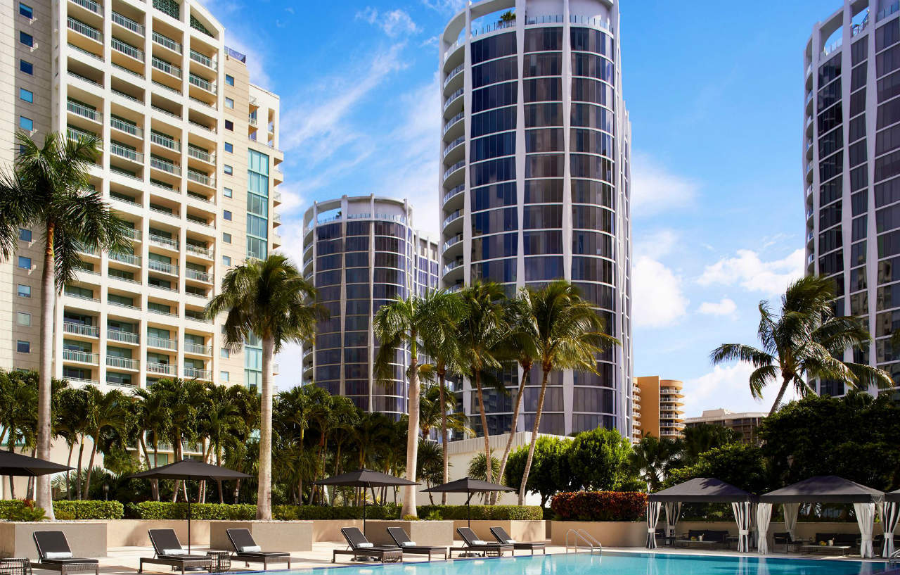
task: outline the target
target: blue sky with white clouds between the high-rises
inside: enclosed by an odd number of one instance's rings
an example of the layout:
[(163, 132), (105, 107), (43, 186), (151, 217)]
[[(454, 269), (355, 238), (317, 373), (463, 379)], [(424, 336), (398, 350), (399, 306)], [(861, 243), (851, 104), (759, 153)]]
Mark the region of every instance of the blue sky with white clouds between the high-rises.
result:
[[(409, 197), (437, 233), (437, 34), (459, 0), (207, 3), (281, 95), (285, 251), (302, 213), (343, 194)], [(768, 410), (749, 370), (714, 368), (719, 343), (755, 342), (761, 299), (803, 267), (803, 49), (837, 2), (792, 0), (763, 17), (740, 3), (622, 3), (633, 129), (635, 375), (686, 384), (688, 415)], [(281, 354), (279, 388), (299, 383)]]

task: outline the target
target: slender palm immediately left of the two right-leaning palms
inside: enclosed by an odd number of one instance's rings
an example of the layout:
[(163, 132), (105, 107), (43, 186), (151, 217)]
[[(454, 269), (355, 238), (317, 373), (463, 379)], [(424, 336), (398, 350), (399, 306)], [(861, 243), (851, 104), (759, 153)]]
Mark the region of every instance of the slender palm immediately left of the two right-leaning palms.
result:
[[(501, 367), (496, 356), (497, 344), (506, 337), (509, 326), (504, 313), (506, 292), (500, 284), (475, 281), (462, 293), (465, 314), (460, 324), (460, 347), (469, 360), (469, 376), (475, 383), (478, 409), (482, 417), (484, 456), (491, 453), (491, 438), (488, 433), (488, 415), (484, 407), (482, 377), (486, 370)], [(492, 480), (492, 469), (486, 467), (486, 480)]]

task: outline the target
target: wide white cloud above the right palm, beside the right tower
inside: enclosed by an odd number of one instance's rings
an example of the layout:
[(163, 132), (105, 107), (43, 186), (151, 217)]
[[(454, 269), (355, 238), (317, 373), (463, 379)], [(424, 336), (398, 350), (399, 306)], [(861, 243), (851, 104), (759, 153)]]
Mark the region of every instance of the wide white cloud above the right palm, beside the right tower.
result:
[(701, 286), (714, 284), (741, 286), (767, 296), (783, 293), (788, 283), (803, 276), (802, 249), (792, 251), (781, 260), (763, 261), (756, 251), (738, 250), (733, 258), (724, 258), (707, 266), (697, 282)]

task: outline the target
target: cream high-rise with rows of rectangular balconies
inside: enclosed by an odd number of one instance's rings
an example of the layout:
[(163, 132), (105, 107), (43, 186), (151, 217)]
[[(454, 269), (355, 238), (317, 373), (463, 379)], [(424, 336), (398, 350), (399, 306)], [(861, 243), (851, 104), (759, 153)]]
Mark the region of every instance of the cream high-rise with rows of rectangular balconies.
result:
[[(130, 250), (85, 249), (58, 297), (53, 375), (139, 388), (161, 378), (258, 385), (261, 348), (229, 353), (203, 307), (232, 266), (281, 244), (278, 96), (249, 83), (246, 57), (190, 0), (23, 0), (0, 20), (0, 80), (14, 132), (93, 134), (90, 185), (129, 227)], [(42, 229), (0, 262), (0, 366), (37, 369)]]

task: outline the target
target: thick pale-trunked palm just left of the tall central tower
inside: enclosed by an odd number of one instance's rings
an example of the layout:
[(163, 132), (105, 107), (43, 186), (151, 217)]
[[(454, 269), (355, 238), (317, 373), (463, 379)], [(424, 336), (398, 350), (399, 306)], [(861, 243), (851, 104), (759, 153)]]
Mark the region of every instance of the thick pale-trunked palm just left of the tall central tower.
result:
[[(419, 351), (427, 352), (422, 340), (440, 340), (447, 324), (455, 321), (451, 314), (452, 296), (443, 290), (429, 291), (425, 297), (398, 297), (381, 306), (374, 315), (373, 332), (380, 342), (374, 361), (374, 378), (387, 385), (395, 377), (393, 363), (398, 352), (410, 352), (407, 412), (409, 423), (406, 437), (407, 479), (416, 480), (416, 460), (419, 456)], [(403, 489), (401, 516), (416, 516), (416, 489)]]

